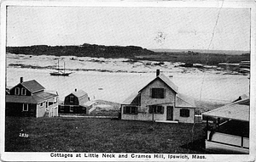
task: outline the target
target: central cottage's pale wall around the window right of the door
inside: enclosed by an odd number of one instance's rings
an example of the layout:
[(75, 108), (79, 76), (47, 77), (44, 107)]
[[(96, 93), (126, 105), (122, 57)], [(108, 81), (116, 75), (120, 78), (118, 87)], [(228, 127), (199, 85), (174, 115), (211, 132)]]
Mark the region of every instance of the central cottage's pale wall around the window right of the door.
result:
[[(180, 116), (180, 109), (189, 109), (189, 117)], [(173, 109), (173, 120), (177, 120), (182, 123), (194, 123), (195, 120), (195, 109), (193, 108), (174, 108)]]

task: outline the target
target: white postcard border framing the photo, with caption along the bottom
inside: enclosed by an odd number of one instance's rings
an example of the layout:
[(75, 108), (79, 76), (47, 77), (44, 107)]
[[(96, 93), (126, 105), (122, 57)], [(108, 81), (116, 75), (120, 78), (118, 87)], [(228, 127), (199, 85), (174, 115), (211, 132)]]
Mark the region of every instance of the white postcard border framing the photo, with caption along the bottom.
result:
[[(90, 2), (70, 2), (70, 1), (58, 1), (58, 2), (49, 2), (49, 1), (3, 1), (1, 3), (1, 55), (0, 55), (0, 108), (1, 108), (1, 116), (0, 118), (0, 126), (1, 126), (1, 148), (0, 148), (0, 158), (1, 160), (8, 161), (127, 161), (127, 159), (78, 159), (78, 158), (52, 158), (50, 157), (50, 153), (5, 153), (4, 152), (4, 123), (5, 123), (5, 115), (4, 115), (4, 107), (5, 107), (5, 47), (6, 47), (6, 7), (12, 6), (79, 6), (79, 7), (169, 7), (169, 8), (251, 8), (251, 76), (250, 76), (250, 154), (249, 155), (234, 155), (234, 154), (205, 154), (207, 157), (207, 161), (255, 161), (256, 159), (256, 3), (253, 0), (248, 1), (231, 1), (231, 0), (216, 0), (216, 1), (192, 1), (192, 0), (183, 0), (183, 1), (150, 1), (150, 2), (127, 2), (127, 1), (111, 1), (111, 2), (100, 2), (100, 1), (90, 1)], [(79, 153), (66, 153), (66, 154), (79, 154)], [(80, 153), (84, 154), (84, 153)], [(102, 156), (102, 154), (99, 154)], [(131, 155), (131, 154), (129, 154)], [(153, 156), (153, 154), (151, 154)], [(166, 154), (167, 155), (167, 154)], [(191, 154), (189, 154), (191, 156)], [(129, 159), (132, 161), (156, 161), (158, 159)], [(206, 159), (189, 159), (191, 161), (206, 161)], [(171, 160), (165, 159), (163, 161), (187, 161), (187, 159), (178, 159)]]

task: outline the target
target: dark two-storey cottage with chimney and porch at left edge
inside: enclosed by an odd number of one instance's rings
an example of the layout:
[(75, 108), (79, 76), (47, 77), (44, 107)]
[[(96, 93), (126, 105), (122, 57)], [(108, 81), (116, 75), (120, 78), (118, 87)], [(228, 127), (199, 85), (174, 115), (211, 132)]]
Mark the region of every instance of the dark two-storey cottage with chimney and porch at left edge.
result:
[(6, 94), (6, 114), (15, 116), (57, 116), (58, 95), (44, 92), (38, 81), (23, 81)]

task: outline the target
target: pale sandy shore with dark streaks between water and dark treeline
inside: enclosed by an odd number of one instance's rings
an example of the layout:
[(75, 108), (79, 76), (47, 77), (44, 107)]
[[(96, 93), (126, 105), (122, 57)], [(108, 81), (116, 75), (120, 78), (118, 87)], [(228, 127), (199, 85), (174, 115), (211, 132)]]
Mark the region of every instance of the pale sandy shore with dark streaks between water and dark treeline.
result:
[[(56, 62), (61, 59), (61, 64), (65, 64), (65, 70), (69, 72), (96, 71), (109, 73), (154, 73), (160, 69), (165, 73), (214, 73), (220, 75), (247, 75), (232, 70), (220, 70), (218, 66), (198, 66), (185, 67), (182, 62), (159, 62), (152, 60), (132, 60), (132, 59), (104, 59), (77, 56), (47, 56), (47, 55), (25, 55), (8, 53), (7, 67), (35, 70), (56, 70)], [(60, 66), (64, 69), (63, 65)]]

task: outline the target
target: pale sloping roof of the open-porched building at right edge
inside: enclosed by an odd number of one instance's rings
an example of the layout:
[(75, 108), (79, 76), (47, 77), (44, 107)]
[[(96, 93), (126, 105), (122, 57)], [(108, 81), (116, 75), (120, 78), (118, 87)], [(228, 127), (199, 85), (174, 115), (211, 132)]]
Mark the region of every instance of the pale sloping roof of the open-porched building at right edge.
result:
[(230, 103), (218, 109), (213, 109), (212, 111), (203, 113), (203, 115), (232, 119), (232, 120), (249, 121), (250, 106), (247, 104), (243, 104), (243, 103), (247, 103), (248, 100), (249, 98), (242, 99), (235, 103)]

